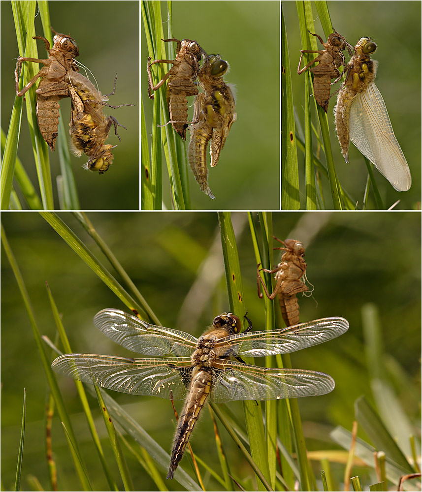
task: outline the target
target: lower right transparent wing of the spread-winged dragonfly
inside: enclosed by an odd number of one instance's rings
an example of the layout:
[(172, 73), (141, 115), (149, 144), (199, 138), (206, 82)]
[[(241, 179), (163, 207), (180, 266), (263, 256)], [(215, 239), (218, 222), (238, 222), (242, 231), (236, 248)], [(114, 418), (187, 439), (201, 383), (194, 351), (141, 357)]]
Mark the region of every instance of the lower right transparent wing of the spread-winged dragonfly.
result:
[(331, 376), (312, 370), (265, 369), (225, 359), (213, 366), (210, 398), (218, 403), (325, 395), (335, 386)]

